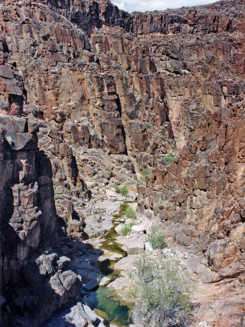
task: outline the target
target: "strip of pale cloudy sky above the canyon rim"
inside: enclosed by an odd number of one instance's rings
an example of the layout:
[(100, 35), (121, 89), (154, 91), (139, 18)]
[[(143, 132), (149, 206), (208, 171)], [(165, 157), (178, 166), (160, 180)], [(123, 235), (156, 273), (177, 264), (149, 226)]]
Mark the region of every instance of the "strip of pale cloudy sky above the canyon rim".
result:
[(164, 10), (167, 8), (181, 8), (206, 5), (217, 2), (217, 0), (111, 0), (111, 2), (128, 12)]

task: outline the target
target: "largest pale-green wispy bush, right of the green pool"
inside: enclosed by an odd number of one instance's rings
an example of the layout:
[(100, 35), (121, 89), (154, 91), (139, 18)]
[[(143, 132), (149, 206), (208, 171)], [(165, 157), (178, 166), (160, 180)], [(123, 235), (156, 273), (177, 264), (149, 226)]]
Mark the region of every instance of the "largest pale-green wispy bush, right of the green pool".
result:
[(191, 298), (194, 283), (188, 278), (183, 266), (175, 257), (147, 252), (134, 263), (135, 282), (129, 296), (134, 304), (133, 311), (143, 317), (148, 327), (172, 326), (177, 318), (178, 325), (187, 322), (191, 313)]

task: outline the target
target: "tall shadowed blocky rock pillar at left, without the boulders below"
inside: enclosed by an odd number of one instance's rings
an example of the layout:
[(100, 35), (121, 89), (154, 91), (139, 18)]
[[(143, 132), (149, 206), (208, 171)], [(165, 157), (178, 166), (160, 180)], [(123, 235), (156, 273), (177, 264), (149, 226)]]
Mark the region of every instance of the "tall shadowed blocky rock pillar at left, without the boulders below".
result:
[(40, 242), (55, 241), (56, 210), (50, 160), (37, 150), (38, 127), (21, 116), (1, 115), (0, 121), (2, 278), (7, 284), (18, 281), (25, 259)]

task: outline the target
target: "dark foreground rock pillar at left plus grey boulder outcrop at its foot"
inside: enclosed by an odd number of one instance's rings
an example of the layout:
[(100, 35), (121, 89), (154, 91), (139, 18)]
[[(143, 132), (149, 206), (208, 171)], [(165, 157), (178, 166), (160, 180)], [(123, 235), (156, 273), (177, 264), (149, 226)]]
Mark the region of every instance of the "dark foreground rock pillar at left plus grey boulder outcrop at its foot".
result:
[(38, 126), (24, 116), (0, 121), (1, 324), (21, 326), (17, 315), (36, 326), (75, 298), (80, 282), (65, 269), (70, 259), (40, 255), (42, 246), (57, 243), (58, 226), (52, 165), (37, 148)]

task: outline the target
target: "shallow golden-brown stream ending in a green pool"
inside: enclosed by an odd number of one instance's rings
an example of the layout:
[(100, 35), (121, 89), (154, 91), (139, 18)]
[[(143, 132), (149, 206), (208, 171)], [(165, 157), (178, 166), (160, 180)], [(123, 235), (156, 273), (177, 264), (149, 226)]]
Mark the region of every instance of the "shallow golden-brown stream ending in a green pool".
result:
[[(119, 236), (115, 232), (114, 228), (117, 226), (116, 221), (122, 218), (129, 202), (121, 204), (119, 213), (112, 215), (112, 227), (109, 231), (101, 236), (103, 245), (100, 246), (100, 250), (108, 250), (109, 252), (115, 252), (122, 254), (123, 257), (127, 256), (127, 252), (122, 250), (123, 244), (115, 242), (115, 238)], [(131, 202), (132, 203), (132, 202)], [(105, 241), (104, 241), (105, 239)], [(105, 256), (107, 253), (105, 254)], [(121, 258), (120, 258), (121, 259)], [(114, 270), (115, 263), (120, 260), (105, 260), (100, 262), (100, 271), (110, 280), (107, 284), (113, 282), (116, 278), (120, 277), (120, 271)], [(110, 324), (115, 324), (119, 327), (128, 326), (132, 321), (129, 319), (129, 308), (118, 301), (114, 296), (114, 288), (107, 287), (106, 285), (98, 286), (97, 289), (91, 292), (89, 297), (84, 297), (84, 303), (86, 303), (91, 310), (104, 318), (104, 325), (109, 327)]]

